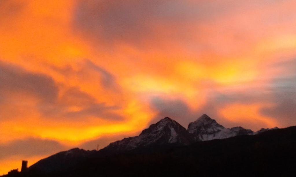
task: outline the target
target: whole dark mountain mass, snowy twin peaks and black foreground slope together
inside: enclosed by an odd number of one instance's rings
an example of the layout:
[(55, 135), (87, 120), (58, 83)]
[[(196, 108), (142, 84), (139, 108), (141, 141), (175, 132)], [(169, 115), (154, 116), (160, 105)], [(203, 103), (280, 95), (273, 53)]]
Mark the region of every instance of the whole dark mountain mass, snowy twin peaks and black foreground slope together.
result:
[(295, 173), (295, 135), (296, 127), (225, 128), (206, 114), (186, 129), (165, 117), (139, 136), (59, 152), (10, 176), (287, 176)]

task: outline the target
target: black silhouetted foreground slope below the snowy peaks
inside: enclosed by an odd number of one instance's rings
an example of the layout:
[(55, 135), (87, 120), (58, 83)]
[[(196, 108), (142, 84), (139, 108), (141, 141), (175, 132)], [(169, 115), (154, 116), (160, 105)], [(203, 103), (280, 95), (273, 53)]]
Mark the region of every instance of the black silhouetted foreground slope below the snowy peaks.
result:
[(11, 176), (296, 176), (296, 127), (120, 153), (72, 149)]

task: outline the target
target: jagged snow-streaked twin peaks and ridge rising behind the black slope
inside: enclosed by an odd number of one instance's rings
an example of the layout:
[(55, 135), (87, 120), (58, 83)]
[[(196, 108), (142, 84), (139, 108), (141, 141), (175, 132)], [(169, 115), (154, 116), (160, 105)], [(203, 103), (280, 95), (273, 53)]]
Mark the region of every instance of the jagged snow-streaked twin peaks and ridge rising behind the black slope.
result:
[[(278, 127), (271, 129), (278, 129)], [(195, 122), (191, 122), (186, 130), (178, 122), (165, 117), (143, 130), (139, 136), (124, 138), (123, 140), (110, 143), (110, 145), (104, 148), (104, 151), (122, 152), (163, 144), (187, 145), (197, 141), (225, 139), (239, 135), (255, 135), (271, 129), (262, 128), (258, 132), (253, 132), (243, 127), (225, 128), (218, 124), (215, 119), (211, 119), (207, 114), (203, 114)]]

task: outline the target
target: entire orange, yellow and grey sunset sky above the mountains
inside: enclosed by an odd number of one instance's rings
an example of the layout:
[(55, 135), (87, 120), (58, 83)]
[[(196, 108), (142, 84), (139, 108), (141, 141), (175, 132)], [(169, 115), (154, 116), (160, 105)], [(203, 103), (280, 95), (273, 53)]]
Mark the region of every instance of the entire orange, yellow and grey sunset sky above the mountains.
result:
[(170, 117), (296, 125), (295, 0), (0, 0), (0, 175)]

